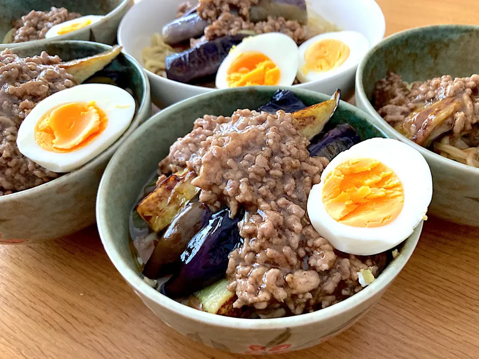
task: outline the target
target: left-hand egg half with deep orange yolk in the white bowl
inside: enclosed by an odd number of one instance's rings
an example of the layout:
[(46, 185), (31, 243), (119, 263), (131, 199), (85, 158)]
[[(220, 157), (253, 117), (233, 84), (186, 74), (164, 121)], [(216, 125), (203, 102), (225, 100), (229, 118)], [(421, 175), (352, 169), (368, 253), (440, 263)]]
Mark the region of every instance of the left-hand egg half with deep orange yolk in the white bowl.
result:
[(279, 32), (250, 36), (222, 62), (216, 87), (291, 86), (297, 68), (298, 47), (291, 37)]

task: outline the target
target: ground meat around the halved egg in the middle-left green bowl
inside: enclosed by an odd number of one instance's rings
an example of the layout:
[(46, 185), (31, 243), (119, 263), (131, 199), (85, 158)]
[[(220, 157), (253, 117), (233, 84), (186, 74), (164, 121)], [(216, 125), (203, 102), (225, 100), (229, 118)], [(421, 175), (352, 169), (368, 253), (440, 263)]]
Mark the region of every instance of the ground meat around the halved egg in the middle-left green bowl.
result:
[(58, 64), (58, 56), (20, 58), (0, 52), (0, 196), (32, 188), (58, 177), (24, 157), (16, 146), (21, 122), (49, 95), (72, 87), (75, 78)]

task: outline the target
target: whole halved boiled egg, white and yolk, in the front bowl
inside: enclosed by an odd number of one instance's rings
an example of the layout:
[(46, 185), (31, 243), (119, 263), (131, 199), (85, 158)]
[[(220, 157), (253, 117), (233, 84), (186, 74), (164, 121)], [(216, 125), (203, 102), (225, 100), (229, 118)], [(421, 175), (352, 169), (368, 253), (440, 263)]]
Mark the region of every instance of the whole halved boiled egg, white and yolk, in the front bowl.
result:
[(431, 171), (423, 156), (373, 138), (336, 156), (308, 197), (311, 224), (336, 249), (372, 255), (394, 248), (425, 218)]

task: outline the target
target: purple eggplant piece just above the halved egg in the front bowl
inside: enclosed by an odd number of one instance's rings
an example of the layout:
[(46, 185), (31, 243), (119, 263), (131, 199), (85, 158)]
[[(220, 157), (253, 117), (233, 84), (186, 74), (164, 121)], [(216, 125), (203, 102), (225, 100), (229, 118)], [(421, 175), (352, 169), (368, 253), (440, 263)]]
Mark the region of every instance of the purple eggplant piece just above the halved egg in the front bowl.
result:
[(341, 124), (311, 139), (308, 147), (311, 157), (326, 157), (329, 161), (339, 153), (349, 150), (360, 142), (356, 130), (349, 124)]

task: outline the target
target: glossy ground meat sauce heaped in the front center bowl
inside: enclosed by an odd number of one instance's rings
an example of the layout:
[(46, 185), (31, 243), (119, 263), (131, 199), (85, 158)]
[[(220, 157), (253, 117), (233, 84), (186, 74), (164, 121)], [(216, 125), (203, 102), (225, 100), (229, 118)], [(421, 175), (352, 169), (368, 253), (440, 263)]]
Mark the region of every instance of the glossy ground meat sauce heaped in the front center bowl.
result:
[(230, 254), (229, 290), (235, 308), (280, 308), (279, 316), (301, 314), (337, 303), (362, 287), (357, 272), (377, 276), (386, 255), (357, 257), (336, 251), (311, 226), (306, 203), (327, 165), (310, 157), (308, 140), (292, 115), (238, 110), (232, 117), (206, 115), (193, 131), (172, 145), (160, 163), (164, 174), (188, 168), (200, 200), (232, 215), (243, 244)]

